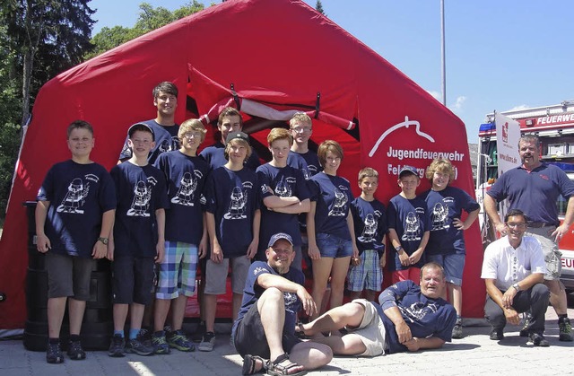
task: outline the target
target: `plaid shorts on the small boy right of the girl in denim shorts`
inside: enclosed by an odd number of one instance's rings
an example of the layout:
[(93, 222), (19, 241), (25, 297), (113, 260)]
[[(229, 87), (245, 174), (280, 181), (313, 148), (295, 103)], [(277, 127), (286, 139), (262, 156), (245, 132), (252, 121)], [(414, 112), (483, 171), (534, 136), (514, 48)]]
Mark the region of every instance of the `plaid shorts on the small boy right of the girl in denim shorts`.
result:
[(363, 289), (381, 291), (383, 272), (378, 261), (378, 252), (373, 249), (363, 250), (361, 264), (349, 267), (347, 290), (361, 292)]

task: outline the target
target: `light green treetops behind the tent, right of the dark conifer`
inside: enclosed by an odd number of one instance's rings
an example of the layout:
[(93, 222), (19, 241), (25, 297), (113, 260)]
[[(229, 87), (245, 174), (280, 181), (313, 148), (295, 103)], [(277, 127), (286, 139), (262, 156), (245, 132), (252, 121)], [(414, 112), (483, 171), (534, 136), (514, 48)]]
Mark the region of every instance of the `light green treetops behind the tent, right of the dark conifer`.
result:
[(114, 26), (113, 28), (102, 28), (91, 39), (94, 49), (86, 54), (85, 57), (96, 57), (147, 32), (154, 31), (161, 28), (161, 26), (202, 10), (204, 10), (204, 4), (198, 3), (196, 0), (181, 6), (173, 12), (162, 6), (154, 8), (151, 4), (142, 3), (140, 4), (140, 13), (134, 27)]

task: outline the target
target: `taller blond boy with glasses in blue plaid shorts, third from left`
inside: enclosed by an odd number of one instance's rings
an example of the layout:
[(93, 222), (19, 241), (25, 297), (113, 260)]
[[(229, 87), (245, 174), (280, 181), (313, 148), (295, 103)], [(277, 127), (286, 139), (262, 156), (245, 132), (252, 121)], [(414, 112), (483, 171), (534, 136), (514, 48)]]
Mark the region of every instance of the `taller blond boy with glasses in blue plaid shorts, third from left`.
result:
[[(187, 297), (196, 291), (197, 259), (205, 256), (207, 230), (204, 226), (204, 182), (209, 164), (196, 156), (204, 141), (205, 127), (197, 119), (188, 119), (179, 127), (179, 150), (162, 153), (155, 167), (168, 181), (170, 208), (165, 219), (165, 258), (160, 264), (155, 293), (155, 354), (169, 354), (170, 347), (193, 351), (195, 346), (182, 331)], [(163, 330), (171, 305), (172, 332)]]

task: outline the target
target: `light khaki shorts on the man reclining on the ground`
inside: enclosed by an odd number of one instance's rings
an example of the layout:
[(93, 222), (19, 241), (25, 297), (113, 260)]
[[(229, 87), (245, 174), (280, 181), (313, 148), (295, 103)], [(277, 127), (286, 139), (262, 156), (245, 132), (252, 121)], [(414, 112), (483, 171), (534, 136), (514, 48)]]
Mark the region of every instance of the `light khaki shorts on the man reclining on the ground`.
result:
[(383, 325), (383, 320), (378, 316), (375, 306), (366, 299), (355, 299), (353, 303), (361, 304), (365, 308), (365, 314), (362, 317), (359, 328), (347, 328), (349, 333), (361, 337), (361, 342), (367, 350), (361, 356), (377, 356), (385, 354), (387, 344), (385, 338), (387, 331)]

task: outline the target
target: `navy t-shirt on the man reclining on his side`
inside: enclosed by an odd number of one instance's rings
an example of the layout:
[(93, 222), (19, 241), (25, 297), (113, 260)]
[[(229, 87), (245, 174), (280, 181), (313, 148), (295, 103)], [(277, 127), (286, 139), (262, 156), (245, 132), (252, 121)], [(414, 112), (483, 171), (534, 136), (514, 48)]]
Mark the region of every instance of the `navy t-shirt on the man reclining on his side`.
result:
[(452, 328), (457, 322), (455, 307), (442, 298), (427, 298), (422, 294), (421, 287), (413, 281), (401, 281), (389, 286), (379, 295), (378, 302), (380, 305), (373, 304), (387, 331), (389, 354), (408, 351), (405, 345), (398, 342), (395, 324), (384, 312), (391, 307), (398, 307), (401, 311), (401, 316), (411, 329), (413, 337), (432, 336), (450, 342)]

